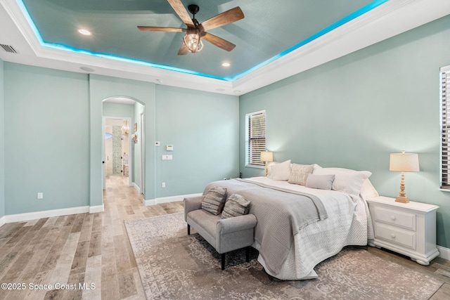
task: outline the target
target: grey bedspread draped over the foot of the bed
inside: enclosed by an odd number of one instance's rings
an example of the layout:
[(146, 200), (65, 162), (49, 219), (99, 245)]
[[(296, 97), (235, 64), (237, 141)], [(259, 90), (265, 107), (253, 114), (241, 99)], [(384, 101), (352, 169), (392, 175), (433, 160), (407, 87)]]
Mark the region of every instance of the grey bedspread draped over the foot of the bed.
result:
[(203, 194), (214, 185), (226, 188), (227, 197), (237, 193), (250, 200), (249, 213), (257, 219), (255, 240), (261, 246), (259, 254), (272, 274), (280, 273), (294, 235), (304, 226), (328, 218), (321, 200), (311, 194), (240, 178), (214, 181)]

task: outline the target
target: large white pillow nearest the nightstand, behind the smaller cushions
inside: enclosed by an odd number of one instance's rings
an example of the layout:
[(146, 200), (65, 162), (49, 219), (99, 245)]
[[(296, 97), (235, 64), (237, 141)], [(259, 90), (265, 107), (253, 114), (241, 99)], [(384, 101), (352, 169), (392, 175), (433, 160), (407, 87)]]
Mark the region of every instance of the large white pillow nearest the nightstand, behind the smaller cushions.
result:
[(369, 171), (354, 171), (343, 168), (314, 168), (313, 174), (335, 174), (333, 190), (339, 190), (350, 195), (359, 195), (364, 181), (372, 175)]

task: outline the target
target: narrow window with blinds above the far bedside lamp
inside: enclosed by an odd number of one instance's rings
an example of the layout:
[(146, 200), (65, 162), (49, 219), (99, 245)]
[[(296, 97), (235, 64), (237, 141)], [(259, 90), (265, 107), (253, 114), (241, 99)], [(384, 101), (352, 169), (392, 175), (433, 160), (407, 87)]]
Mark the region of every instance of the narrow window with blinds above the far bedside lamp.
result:
[(245, 166), (264, 167), (261, 152), (266, 150), (266, 111), (245, 115)]

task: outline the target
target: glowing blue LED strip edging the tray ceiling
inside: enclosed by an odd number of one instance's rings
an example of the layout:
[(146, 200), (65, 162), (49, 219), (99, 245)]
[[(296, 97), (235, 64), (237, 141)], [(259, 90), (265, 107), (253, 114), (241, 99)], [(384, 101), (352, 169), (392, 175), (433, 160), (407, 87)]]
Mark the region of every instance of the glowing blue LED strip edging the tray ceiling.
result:
[(147, 67), (156, 67), (162, 70), (169, 70), (169, 71), (174, 71), (174, 72), (181, 72), (181, 73), (185, 73), (185, 74), (192, 74), (192, 75), (198, 75), (198, 76), (202, 76), (202, 77), (209, 77), (209, 78), (213, 78), (213, 79), (219, 79), (219, 80), (223, 80), (223, 81), (235, 81), (237, 79), (240, 79), (242, 77), (244, 77), (247, 74), (250, 74), (251, 72), (254, 72), (255, 70), (259, 69), (260, 67), (264, 67), (264, 65), (268, 65), (269, 63), (272, 63), (273, 61), (277, 60), (278, 58), (281, 58), (283, 56), (285, 56), (286, 54), (294, 51), (297, 48), (300, 48), (301, 46), (304, 46), (305, 44), (308, 44), (310, 41), (314, 41), (314, 39), (317, 39), (321, 36), (323, 36), (324, 34), (327, 34), (330, 31), (335, 30), (336, 28), (340, 27), (341, 25), (344, 25), (345, 23), (354, 20), (355, 18), (358, 18), (360, 15), (364, 15), (364, 13), (367, 13), (368, 11), (371, 11), (373, 8), (376, 8), (378, 6), (380, 6), (381, 4), (386, 3), (389, 0), (375, 0), (373, 2), (371, 2), (370, 4), (364, 6), (363, 8), (360, 8), (359, 10), (355, 11), (354, 13), (351, 13), (349, 15), (347, 15), (345, 18), (342, 18), (341, 20), (338, 20), (338, 22), (333, 23), (332, 25), (324, 28), (323, 30), (320, 30), (319, 32), (316, 32), (316, 34), (311, 35), (310, 37), (308, 37), (307, 39), (304, 39), (303, 41), (300, 41), (300, 43), (295, 44), (294, 46), (286, 49), (285, 51), (278, 53), (276, 56), (269, 58), (268, 60), (265, 60), (262, 63), (259, 63), (258, 65), (256, 65), (255, 67), (250, 68), (249, 70), (246, 70), (240, 74), (237, 74), (235, 77), (218, 77), (218, 76), (214, 76), (211, 74), (205, 74), (205, 73), (200, 73), (200, 72), (195, 72), (192, 70), (186, 70), (186, 69), (181, 69), (178, 67), (171, 67), (168, 65), (158, 65), (156, 63), (146, 63), (143, 62), (141, 60), (133, 60), (131, 58), (121, 58), (119, 56), (111, 56), (109, 54), (103, 54), (103, 53), (92, 53), (90, 51), (86, 51), (86, 50), (81, 50), (81, 49), (77, 49), (77, 48), (72, 48), (69, 46), (65, 46), (65, 45), (60, 45), (60, 44), (51, 44), (51, 43), (46, 43), (42, 37), (41, 34), (39, 33), (39, 30), (37, 30), (36, 25), (34, 25), (34, 22), (30, 16), (30, 14), (27, 11), (27, 8), (25, 8), (25, 5), (23, 4), (22, 0), (17, 0), (18, 6), (20, 7), (20, 9), (23, 12), (23, 15), (25, 16), (25, 18), (27, 19), (28, 24), (30, 25), (30, 27), (32, 28), (34, 35), (37, 37), (37, 39), (39, 40), (39, 44), (41, 44), (41, 46), (44, 46), (46, 48), (53, 48), (56, 50), (63, 50), (63, 51), (70, 51), (70, 52), (74, 52), (74, 53), (81, 53), (81, 54), (85, 54), (85, 55), (89, 55), (89, 56), (95, 56), (95, 57), (99, 57), (99, 58), (108, 58), (111, 60), (118, 60), (118, 61), (122, 61), (124, 63), (134, 63), (137, 65), (144, 65)]

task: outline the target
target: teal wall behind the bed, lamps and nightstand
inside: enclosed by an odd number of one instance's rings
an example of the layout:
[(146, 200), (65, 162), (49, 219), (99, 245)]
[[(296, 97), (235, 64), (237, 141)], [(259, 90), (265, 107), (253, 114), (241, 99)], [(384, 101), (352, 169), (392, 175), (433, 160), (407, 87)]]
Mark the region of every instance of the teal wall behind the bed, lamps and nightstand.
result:
[[(245, 113), (266, 110), (274, 160), (368, 170), (380, 195), (396, 197), (391, 152), (417, 152), (406, 195), (439, 205), (437, 244), (450, 247), (450, 193), (439, 190), (439, 67), (450, 65), (450, 16), (240, 97)], [(240, 128), (240, 141), (245, 140)], [(244, 166), (243, 176), (264, 170)]]

